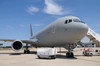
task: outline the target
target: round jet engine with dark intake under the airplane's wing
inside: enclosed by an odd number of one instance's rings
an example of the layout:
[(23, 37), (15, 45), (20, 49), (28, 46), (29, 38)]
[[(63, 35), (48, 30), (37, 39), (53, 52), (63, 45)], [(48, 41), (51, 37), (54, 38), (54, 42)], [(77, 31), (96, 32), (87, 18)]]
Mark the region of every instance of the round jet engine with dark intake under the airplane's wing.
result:
[(20, 51), (23, 48), (23, 43), (20, 40), (15, 40), (11, 47), (14, 51)]

